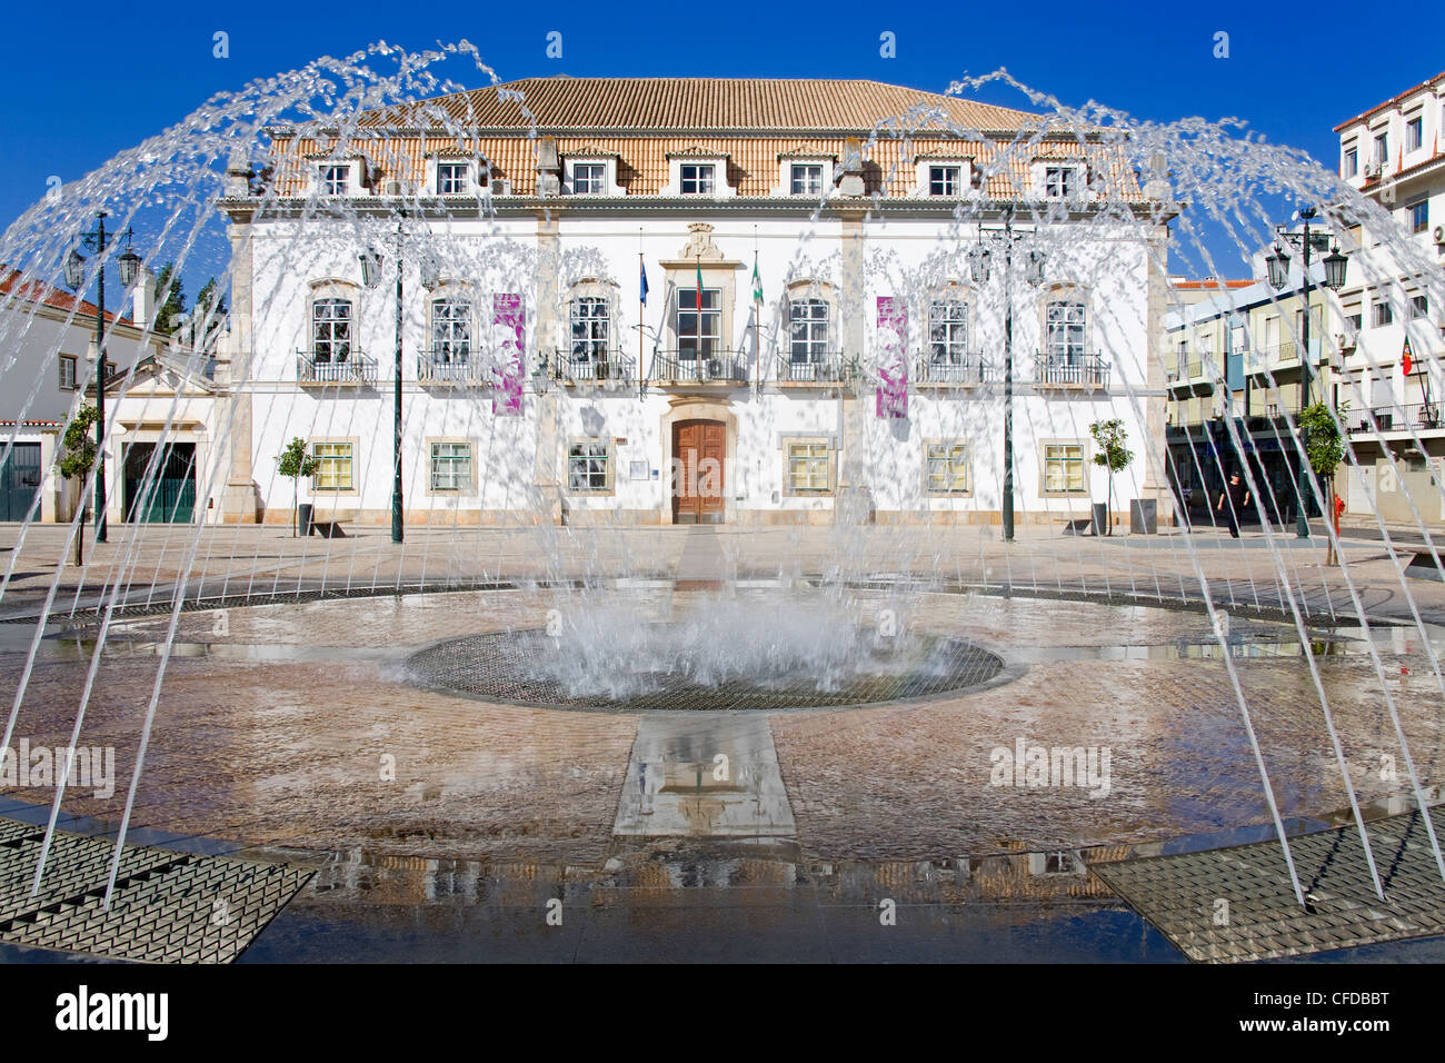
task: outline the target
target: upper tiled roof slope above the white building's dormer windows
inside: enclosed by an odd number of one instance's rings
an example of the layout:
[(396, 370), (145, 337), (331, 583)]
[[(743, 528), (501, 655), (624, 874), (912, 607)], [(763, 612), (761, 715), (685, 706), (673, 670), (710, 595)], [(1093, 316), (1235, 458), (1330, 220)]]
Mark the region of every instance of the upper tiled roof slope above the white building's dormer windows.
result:
[[(519, 98), (520, 95), (520, 98)], [(965, 129), (1017, 129), (1038, 116), (880, 81), (824, 78), (525, 78), (373, 111), (371, 126), (539, 130), (870, 130), (915, 107)]]

